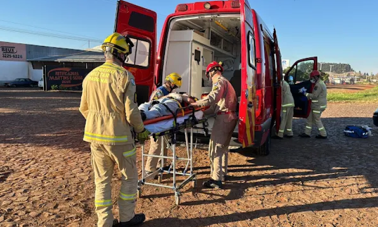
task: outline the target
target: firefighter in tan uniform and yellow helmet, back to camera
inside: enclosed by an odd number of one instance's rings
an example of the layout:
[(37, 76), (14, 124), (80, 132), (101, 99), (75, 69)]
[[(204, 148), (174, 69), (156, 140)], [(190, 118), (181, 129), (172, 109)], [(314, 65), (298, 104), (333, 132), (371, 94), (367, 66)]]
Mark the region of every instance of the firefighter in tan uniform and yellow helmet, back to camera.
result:
[(111, 178), (115, 164), (122, 174), (117, 201), (119, 226), (133, 226), (145, 220), (144, 214), (134, 212), (138, 172), (131, 127), (139, 141), (147, 139), (149, 132), (136, 102), (134, 76), (122, 67), (131, 47), (130, 39), (119, 33), (107, 37), (102, 44), (106, 62), (83, 81), (80, 112), (86, 119), (84, 141), (91, 143), (99, 227), (113, 225)]

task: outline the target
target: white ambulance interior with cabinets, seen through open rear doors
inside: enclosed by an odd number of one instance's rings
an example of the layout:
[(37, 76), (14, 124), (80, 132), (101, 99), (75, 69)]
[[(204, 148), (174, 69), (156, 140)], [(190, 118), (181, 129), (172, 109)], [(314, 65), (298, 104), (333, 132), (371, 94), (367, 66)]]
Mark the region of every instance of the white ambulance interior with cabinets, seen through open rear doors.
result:
[[(182, 85), (177, 91), (201, 98), (212, 89), (212, 82), (206, 77), (207, 65), (213, 61), (222, 62), (222, 75), (231, 82), (240, 102), (240, 37), (238, 14), (173, 19), (167, 36), (163, 75), (180, 74)], [(212, 123), (209, 122), (210, 131)]]

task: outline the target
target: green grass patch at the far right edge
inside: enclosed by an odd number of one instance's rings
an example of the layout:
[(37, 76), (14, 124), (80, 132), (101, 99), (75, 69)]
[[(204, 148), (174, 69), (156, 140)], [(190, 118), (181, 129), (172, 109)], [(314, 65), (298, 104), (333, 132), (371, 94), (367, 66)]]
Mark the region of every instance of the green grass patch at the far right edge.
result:
[(359, 92), (330, 92), (327, 99), (330, 102), (378, 101), (378, 87)]

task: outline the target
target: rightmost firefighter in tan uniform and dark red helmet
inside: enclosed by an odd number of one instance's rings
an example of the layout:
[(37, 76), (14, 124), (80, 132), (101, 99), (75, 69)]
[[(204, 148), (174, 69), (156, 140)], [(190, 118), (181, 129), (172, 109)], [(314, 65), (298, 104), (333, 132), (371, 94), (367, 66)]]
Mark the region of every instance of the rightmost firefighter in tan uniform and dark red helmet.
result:
[(307, 93), (302, 89), (299, 93), (304, 94), (308, 100), (311, 100), (311, 112), (307, 118), (306, 128), (300, 137), (309, 138), (311, 135), (312, 124), (317, 125), (319, 134), (315, 138), (327, 139), (327, 131), (324, 128), (320, 117), (322, 112), (327, 108), (327, 86), (320, 78), (320, 73), (314, 70), (310, 74), (311, 83), (315, 84), (312, 93)]

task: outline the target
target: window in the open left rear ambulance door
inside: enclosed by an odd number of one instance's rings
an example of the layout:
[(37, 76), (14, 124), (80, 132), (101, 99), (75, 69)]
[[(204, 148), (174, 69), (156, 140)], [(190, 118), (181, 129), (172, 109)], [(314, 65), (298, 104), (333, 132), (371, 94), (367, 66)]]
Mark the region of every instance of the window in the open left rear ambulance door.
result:
[(130, 67), (148, 68), (150, 64), (150, 41), (138, 38), (130, 39), (134, 43), (134, 47), (129, 58), (124, 63)]

